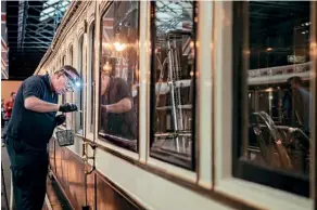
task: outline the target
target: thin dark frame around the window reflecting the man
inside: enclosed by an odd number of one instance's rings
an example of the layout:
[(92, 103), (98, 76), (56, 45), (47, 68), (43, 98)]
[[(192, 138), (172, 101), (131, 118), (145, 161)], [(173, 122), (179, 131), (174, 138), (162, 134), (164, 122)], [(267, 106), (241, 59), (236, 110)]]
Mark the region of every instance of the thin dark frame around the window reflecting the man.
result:
[[(99, 69), (98, 69), (98, 82), (100, 83), (101, 82), (101, 77), (100, 77), (100, 68), (102, 67), (101, 65), (101, 57), (102, 57), (102, 36), (103, 36), (103, 16), (109, 12), (110, 8), (113, 5), (113, 1), (110, 2), (106, 8), (102, 11), (101, 15), (100, 15), (100, 37), (99, 37), (99, 41), (100, 41), (100, 44), (99, 44)], [(137, 47), (137, 54), (138, 54), (138, 58), (137, 58), (137, 63), (138, 63), (138, 66), (140, 65), (140, 44), (139, 44), (139, 40), (140, 40), (140, 6), (141, 6), (141, 3), (140, 1), (138, 1), (138, 47)], [(140, 66), (139, 66), (139, 69), (140, 69)], [(140, 84), (140, 77), (139, 77), (139, 84)], [(138, 113), (139, 113), (139, 108), (140, 108), (140, 86), (137, 87), (137, 90), (138, 90)], [(111, 135), (111, 134), (107, 134), (107, 133), (100, 133), (99, 130), (100, 130), (100, 114), (101, 114), (101, 97), (100, 97), (100, 91), (101, 91), (101, 86), (99, 86), (99, 89), (98, 89), (98, 124), (97, 126), (97, 135), (98, 135), (98, 140), (101, 141), (101, 142), (105, 142), (105, 143), (109, 143), (109, 144), (112, 144), (114, 145), (115, 147), (119, 147), (119, 148), (124, 148), (124, 149), (127, 149), (127, 150), (130, 150), (130, 152), (134, 152), (134, 153), (139, 153), (139, 139), (140, 139), (140, 133), (139, 133), (139, 123), (140, 123), (140, 117), (139, 117), (139, 114), (137, 116), (137, 120), (138, 120), (138, 123), (137, 123), (137, 140), (136, 141), (130, 141), (130, 140), (126, 140), (126, 139), (123, 139), (123, 137), (118, 137), (118, 136), (115, 136), (115, 135)]]

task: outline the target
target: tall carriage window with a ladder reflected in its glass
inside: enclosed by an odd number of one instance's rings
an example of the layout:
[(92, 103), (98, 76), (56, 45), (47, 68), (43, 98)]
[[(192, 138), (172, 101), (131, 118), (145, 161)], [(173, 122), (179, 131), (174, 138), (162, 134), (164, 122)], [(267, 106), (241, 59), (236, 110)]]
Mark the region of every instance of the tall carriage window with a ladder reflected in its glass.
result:
[(152, 2), (151, 156), (194, 170), (195, 3)]

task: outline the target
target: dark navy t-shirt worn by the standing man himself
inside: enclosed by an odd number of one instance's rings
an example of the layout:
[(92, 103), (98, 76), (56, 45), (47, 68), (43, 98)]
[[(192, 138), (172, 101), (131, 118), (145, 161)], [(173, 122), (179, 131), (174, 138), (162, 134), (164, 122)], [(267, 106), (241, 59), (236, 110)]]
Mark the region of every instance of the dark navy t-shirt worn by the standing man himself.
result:
[(45, 149), (56, 126), (56, 113), (36, 113), (26, 109), (24, 100), (29, 96), (58, 103), (58, 94), (51, 90), (48, 75), (27, 78), (16, 93), (7, 135), (9, 140), (22, 141), (31, 147)]

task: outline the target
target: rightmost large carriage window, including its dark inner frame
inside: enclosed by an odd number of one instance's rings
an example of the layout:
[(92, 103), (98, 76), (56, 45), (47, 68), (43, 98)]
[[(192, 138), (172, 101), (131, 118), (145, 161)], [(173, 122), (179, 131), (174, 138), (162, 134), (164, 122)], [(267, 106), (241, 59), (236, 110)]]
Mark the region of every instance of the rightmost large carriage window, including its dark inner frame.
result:
[(244, 3), (233, 3), (233, 175), (309, 196), (309, 2)]

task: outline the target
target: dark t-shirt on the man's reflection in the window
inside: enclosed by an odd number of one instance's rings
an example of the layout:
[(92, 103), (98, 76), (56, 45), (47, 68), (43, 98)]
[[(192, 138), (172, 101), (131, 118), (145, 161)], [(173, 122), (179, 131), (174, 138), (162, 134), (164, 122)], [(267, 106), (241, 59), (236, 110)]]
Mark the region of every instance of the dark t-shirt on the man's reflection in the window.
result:
[[(122, 78), (111, 78), (109, 90), (106, 94), (102, 96), (101, 103), (103, 105), (111, 105), (118, 103), (123, 99), (129, 99), (132, 103), (127, 82)], [(102, 113), (101, 126), (109, 134), (128, 140), (136, 140), (137, 117), (135, 107), (132, 106), (129, 111), (122, 114)]]

